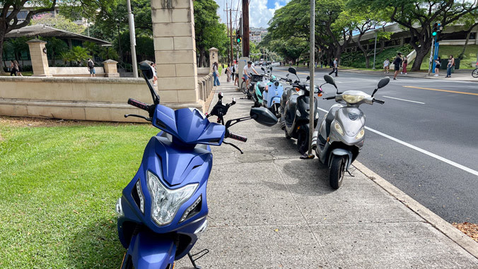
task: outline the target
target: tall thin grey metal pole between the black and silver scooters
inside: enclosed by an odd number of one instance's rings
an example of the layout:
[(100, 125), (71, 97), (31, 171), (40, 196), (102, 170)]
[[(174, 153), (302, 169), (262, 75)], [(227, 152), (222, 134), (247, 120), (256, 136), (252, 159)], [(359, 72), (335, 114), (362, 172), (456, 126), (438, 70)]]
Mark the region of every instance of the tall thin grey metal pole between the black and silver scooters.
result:
[[(315, 0), (310, 0), (310, 59), (309, 63), (315, 62)], [(314, 122), (315, 122), (315, 99), (314, 99), (314, 64), (309, 64), (310, 66), (310, 113), (309, 113), (309, 157), (313, 158), (312, 155), (312, 136), (314, 135)], [(312, 155), (312, 156), (310, 156)]]

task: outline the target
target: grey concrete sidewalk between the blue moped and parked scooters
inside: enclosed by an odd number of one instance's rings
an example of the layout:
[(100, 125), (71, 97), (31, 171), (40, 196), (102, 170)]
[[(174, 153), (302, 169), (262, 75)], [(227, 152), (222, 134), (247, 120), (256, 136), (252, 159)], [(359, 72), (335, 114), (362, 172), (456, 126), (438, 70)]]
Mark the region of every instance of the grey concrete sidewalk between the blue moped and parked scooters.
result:
[[(219, 91), (223, 102), (237, 100), (226, 120), (249, 115), (252, 102), (240, 99), (224, 76)], [(279, 124), (245, 121), (231, 131), (248, 140), (229, 141), (243, 155), (229, 145), (213, 147), (209, 227), (193, 249), (209, 249), (197, 261), (203, 268), (478, 268), (477, 258), (370, 175), (356, 169), (332, 190), (327, 167), (317, 158), (300, 160)], [(175, 268), (191, 265), (183, 258)]]

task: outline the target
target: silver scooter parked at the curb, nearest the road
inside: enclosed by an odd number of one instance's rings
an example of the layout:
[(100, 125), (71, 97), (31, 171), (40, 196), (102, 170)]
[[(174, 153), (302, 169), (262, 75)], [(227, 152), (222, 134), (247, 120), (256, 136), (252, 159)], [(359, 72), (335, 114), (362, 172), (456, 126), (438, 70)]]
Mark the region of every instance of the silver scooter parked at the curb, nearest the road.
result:
[(385, 101), (375, 99), (373, 95), (378, 89), (385, 87), (390, 78), (382, 78), (372, 95), (360, 90), (339, 92), (332, 76), (325, 75), (324, 80), (322, 85), (328, 83), (337, 90), (335, 96), (324, 99), (334, 99), (339, 104), (330, 107), (321, 124), (315, 129), (312, 146), (320, 162), (330, 168), (330, 186), (339, 189), (345, 172), (350, 174), (349, 167), (356, 160), (365, 141), (365, 114), (358, 107), (374, 102), (384, 104)]

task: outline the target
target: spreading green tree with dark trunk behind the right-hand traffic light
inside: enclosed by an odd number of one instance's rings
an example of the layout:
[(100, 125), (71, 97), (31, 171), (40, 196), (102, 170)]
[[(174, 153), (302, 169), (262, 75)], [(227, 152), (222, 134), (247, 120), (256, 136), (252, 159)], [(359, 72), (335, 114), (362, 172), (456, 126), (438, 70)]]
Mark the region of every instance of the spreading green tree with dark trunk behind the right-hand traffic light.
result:
[(412, 71), (419, 71), (429, 53), (433, 37), (433, 23), (444, 28), (473, 13), (477, 18), (477, 1), (468, 0), (351, 0), (356, 6), (370, 6), (373, 10), (389, 11), (390, 20), (409, 31), (409, 44), (416, 51)]

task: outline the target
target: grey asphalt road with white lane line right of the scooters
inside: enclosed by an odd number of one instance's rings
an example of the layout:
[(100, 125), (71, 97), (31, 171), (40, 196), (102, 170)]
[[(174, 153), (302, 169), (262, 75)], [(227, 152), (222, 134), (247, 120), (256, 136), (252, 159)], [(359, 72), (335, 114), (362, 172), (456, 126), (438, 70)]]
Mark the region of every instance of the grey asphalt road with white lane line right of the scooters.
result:
[[(286, 70), (274, 66), (273, 73)], [(316, 84), (325, 73), (315, 73)], [(380, 78), (339, 70), (336, 81), (340, 91), (371, 94)], [(333, 86), (322, 88), (324, 97), (334, 95)], [(385, 104), (361, 106), (368, 130), (357, 160), (448, 222), (478, 223), (478, 83), (399, 75), (375, 97)], [(319, 100), (320, 109), (332, 104)]]

